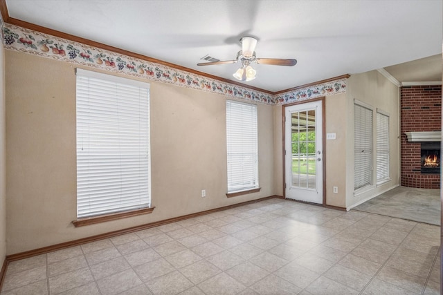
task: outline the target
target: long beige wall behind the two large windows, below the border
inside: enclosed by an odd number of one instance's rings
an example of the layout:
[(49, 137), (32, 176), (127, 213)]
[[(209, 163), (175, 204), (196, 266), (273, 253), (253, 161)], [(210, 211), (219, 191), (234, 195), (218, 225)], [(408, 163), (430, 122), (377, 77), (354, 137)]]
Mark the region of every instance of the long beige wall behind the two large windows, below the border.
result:
[[(6, 50), (7, 254), (275, 194), (258, 105), (259, 193), (226, 198), (226, 97), (151, 83), (152, 214), (75, 228), (75, 66)], [(206, 189), (206, 198), (201, 198)]]

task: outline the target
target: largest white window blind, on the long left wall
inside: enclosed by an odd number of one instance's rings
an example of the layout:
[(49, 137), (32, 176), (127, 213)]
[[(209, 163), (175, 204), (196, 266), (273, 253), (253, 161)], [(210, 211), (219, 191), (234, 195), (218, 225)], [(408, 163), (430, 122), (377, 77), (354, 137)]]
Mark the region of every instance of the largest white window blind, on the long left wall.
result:
[(77, 217), (150, 207), (149, 84), (77, 69)]

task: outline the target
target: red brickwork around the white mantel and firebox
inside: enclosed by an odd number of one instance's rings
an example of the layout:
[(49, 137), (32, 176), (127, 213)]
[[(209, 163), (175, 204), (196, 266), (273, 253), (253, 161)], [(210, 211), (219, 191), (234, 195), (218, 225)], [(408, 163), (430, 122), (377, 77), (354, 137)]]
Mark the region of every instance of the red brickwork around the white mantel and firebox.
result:
[(401, 185), (440, 189), (440, 174), (420, 173), (420, 143), (404, 133), (442, 130), (442, 86), (403, 86), (400, 93)]

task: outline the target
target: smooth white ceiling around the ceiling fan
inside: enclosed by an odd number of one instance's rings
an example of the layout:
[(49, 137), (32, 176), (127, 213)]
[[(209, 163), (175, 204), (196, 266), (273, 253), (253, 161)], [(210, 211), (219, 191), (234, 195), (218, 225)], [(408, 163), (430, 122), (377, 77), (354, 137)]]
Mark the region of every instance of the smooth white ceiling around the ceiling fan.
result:
[(441, 55), (442, 2), (6, 0), (12, 18), (225, 79), (238, 64), (196, 64), (235, 59), (239, 38), (257, 37), (257, 57), (298, 60), (253, 65), (246, 84), (268, 91)]

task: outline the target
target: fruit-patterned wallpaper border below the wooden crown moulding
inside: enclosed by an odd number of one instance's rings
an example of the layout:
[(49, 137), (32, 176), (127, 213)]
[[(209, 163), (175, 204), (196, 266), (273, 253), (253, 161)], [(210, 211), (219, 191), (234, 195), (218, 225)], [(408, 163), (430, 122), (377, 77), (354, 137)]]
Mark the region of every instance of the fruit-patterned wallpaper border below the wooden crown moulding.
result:
[(271, 95), (246, 87), (221, 82), (142, 59), (119, 55), (41, 32), (6, 23), (3, 26), (3, 44), (6, 49), (30, 53), (40, 57), (68, 61), (73, 64), (123, 73), (155, 82), (164, 82), (186, 88), (228, 95), (262, 104), (288, 104), (346, 91), (346, 79), (338, 79), (296, 91)]

